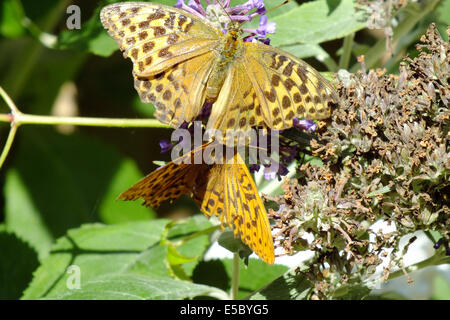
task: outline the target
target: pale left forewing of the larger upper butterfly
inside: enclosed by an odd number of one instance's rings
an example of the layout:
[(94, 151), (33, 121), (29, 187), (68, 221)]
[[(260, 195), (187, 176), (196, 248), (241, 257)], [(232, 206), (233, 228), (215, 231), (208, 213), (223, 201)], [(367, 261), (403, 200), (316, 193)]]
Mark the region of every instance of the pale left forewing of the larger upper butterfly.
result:
[(100, 19), (139, 76), (158, 74), (210, 51), (217, 42), (216, 29), (207, 20), (162, 4), (112, 4), (102, 9)]

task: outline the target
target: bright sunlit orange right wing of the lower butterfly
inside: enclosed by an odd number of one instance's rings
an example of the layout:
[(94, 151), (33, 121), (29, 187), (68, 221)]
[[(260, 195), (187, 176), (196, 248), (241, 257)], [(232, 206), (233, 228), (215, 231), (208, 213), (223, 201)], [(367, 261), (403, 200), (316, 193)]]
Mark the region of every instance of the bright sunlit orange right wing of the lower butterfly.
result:
[(233, 164), (215, 165), (209, 174), (202, 211), (215, 214), (266, 263), (274, 262), (273, 240), (266, 209), (239, 153)]

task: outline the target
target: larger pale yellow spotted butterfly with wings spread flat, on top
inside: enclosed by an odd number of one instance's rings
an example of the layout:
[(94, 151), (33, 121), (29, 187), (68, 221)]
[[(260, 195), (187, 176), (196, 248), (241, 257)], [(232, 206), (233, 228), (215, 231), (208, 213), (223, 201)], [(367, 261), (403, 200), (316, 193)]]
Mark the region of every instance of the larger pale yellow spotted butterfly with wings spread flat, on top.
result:
[(295, 117), (325, 119), (337, 96), (306, 62), (262, 43), (241, 28), (224, 34), (208, 19), (157, 3), (124, 2), (100, 13), (103, 26), (133, 62), (134, 86), (155, 117), (173, 127), (213, 103), (207, 129), (276, 130)]

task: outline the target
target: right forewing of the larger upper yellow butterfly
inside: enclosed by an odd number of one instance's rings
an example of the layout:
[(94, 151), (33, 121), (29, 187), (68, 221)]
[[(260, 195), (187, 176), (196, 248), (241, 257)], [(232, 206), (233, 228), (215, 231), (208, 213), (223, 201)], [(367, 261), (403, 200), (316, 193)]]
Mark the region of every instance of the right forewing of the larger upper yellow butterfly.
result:
[(242, 63), (268, 127), (287, 129), (294, 117), (326, 119), (338, 103), (328, 80), (306, 62), (275, 47), (244, 44)]

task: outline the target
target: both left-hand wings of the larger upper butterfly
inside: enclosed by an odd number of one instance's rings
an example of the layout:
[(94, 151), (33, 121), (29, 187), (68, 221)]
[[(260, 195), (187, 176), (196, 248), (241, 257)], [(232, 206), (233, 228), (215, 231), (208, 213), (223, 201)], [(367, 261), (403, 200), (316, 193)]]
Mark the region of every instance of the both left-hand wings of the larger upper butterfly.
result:
[(184, 10), (144, 2), (106, 6), (100, 18), (132, 60), (135, 88), (155, 104), (155, 117), (174, 127), (192, 120), (203, 106), (220, 31)]

